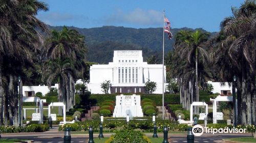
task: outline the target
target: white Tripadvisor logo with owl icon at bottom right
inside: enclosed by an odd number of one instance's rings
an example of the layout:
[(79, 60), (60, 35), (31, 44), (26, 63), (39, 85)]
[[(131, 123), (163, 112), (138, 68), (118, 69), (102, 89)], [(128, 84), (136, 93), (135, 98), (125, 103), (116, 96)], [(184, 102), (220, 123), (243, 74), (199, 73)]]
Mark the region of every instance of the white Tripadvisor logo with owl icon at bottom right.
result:
[(192, 128), (192, 132), (195, 136), (201, 136), (204, 132), (205, 129), (205, 133), (245, 133), (246, 129), (238, 129), (238, 128), (220, 128), (220, 129), (216, 129), (216, 128), (208, 128), (208, 127), (202, 127), (201, 125), (195, 125)]

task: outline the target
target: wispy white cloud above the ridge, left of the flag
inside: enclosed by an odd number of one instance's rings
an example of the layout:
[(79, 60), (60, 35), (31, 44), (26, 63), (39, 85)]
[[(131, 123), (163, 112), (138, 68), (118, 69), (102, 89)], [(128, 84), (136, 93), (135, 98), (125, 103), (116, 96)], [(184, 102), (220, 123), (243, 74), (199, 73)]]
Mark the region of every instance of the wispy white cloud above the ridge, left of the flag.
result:
[(160, 25), (163, 20), (163, 13), (155, 10), (142, 10), (137, 8), (129, 13), (117, 9), (114, 14), (105, 18), (105, 21), (112, 23), (133, 23), (139, 25)]

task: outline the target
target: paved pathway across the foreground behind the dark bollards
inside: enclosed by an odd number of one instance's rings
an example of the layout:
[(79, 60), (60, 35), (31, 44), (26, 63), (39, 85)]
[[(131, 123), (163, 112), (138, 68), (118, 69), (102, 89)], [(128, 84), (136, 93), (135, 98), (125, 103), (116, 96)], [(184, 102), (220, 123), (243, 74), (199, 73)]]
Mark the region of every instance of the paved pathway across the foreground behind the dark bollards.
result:
[[(9, 134), (1, 134), (2, 138), (20, 138), (20, 139), (28, 139), (34, 140), (37, 143), (61, 143), (63, 142), (63, 132), (59, 132), (57, 128), (53, 128), (50, 131), (43, 133), (9, 133)], [(71, 134), (72, 140), (71, 142), (88, 142), (89, 134)], [(103, 133), (104, 137), (111, 136), (110, 133)], [(152, 133), (146, 133), (146, 136), (152, 136)], [(158, 133), (158, 136), (163, 136), (163, 133)], [(244, 137), (251, 136), (250, 133), (246, 134), (203, 134), (200, 137), (195, 136), (195, 142), (223, 142), (224, 138), (233, 138), (233, 137)], [(98, 133), (94, 134), (94, 138), (98, 137)], [(169, 133), (168, 137), (170, 138), (170, 142), (187, 142), (186, 134), (172, 134)]]

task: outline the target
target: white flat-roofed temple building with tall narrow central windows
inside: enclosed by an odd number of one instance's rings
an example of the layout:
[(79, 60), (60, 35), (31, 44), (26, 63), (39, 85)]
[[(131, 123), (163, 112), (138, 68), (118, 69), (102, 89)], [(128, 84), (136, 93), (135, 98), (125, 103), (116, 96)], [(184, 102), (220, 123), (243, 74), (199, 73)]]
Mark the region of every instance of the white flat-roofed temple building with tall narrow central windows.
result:
[[(100, 84), (110, 80), (112, 87), (109, 93), (144, 93), (145, 82), (150, 80), (157, 83), (154, 93), (162, 93), (162, 69), (162, 64), (143, 62), (142, 51), (114, 51), (113, 62), (90, 67), (90, 83), (87, 87), (91, 93), (103, 93)], [(164, 82), (165, 69), (164, 66)]]

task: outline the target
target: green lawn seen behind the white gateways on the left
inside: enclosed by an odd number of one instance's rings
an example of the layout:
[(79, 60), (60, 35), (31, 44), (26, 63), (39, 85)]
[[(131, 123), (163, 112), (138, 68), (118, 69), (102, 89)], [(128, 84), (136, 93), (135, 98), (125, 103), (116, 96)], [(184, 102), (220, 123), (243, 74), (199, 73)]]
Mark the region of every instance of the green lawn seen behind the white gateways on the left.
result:
[[(38, 108), (38, 107), (36, 107), (36, 106), (23, 106), (23, 108)], [(48, 108), (48, 106), (44, 106), (44, 108)], [(39, 110), (38, 110), (39, 111)], [(26, 110), (26, 117), (32, 117), (32, 114), (33, 113), (36, 113), (36, 110), (34, 109), (34, 110), (32, 110), (32, 109), (27, 109)], [(58, 107), (53, 107), (52, 109), (51, 109), (51, 113), (52, 114), (58, 114)], [(23, 110), (23, 114), (24, 114), (24, 110)], [(48, 109), (44, 109), (44, 115), (45, 116), (48, 116)]]

